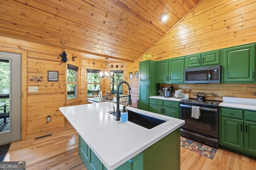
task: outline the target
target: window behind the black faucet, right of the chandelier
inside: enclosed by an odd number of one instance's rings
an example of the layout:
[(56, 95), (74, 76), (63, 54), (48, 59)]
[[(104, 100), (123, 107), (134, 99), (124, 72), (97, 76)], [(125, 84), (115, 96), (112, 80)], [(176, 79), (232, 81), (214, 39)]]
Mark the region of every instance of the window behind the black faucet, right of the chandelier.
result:
[[(111, 70), (114, 74), (114, 78), (111, 78), (111, 91), (112, 94), (117, 94), (117, 86), (120, 81), (123, 80), (124, 70)], [(119, 94), (123, 94), (123, 85), (121, 84), (119, 87)]]

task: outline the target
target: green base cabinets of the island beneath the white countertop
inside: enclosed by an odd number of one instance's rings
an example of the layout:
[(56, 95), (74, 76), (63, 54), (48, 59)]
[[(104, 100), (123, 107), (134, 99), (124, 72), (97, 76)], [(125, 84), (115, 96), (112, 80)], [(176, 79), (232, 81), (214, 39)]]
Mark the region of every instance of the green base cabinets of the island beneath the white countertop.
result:
[[(78, 154), (87, 170), (107, 170), (78, 135)], [(118, 166), (115, 170), (180, 170), (180, 128)]]

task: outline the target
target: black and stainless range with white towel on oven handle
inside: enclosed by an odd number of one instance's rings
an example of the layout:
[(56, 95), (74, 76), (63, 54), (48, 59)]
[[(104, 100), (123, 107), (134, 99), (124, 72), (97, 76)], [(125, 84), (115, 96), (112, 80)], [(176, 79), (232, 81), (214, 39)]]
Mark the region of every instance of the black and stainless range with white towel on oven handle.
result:
[(196, 99), (180, 101), (180, 119), (185, 120), (180, 133), (200, 143), (218, 148), (218, 105), (220, 101)]

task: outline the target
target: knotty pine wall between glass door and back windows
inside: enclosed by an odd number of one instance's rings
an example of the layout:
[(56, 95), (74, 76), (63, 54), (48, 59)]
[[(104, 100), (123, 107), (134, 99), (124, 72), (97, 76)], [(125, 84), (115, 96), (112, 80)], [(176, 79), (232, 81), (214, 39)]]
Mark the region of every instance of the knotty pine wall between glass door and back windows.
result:
[[(64, 51), (59, 47), (52, 47), (41, 43), (34, 43), (31, 41), (20, 40), (16, 38), (6, 37), (0, 35), (0, 51), (8, 51), (12, 53), (21, 53), (20, 51), (27, 52), (26, 63), (22, 65), (26, 69), (26, 86), (22, 86), (22, 98), (24, 98), (24, 105), (26, 111), (22, 111), (22, 139), (29, 139), (40, 137), (42, 135), (50, 134), (55, 131), (64, 129), (65, 118), (60, 112), (59, 107), (71, 106), (78, 104), (87, 104), (87, 68), (94, 68), (104, 70), (105, 63), (102, 61), (92, 61), (90, 58), (80, 57), (84, 56), (82, 53), (65, 50), (68, 54), (68, 62), (70, 64), (80, 65), (80, 100), (77, 102), (66, 104), (66, 64), (61, 61), (59, 54)], [(72, 56), (78, 58), (72, 61)], [(92, 64), (95, 62), (95, 66)], [(128, 71), (127, 63), (110, 63), (118, 68), (112, 70), (124, 70), (124, 80), (127, 80)], [(120, 68), (123, 65), (123, 68)], [(48, 82), (48, 70), (58, 71), (58, 82)], [(32, 77), (42, 76), (41, 81), (32, 81)], [(23, 77), (22, 77), (23, 78)], [(28, 87), (38, 87), (38, 92), (28, 92)], [(101, 89), (103, 94), (110, 84), (106, 84), (106, 79), (101, 82)], [(128, 87), (124, 86), (125, 93), (128, 94)], [(24, 94), (26, 96), (24, 96)], [(47, 116), (51, 116), (51, 121), (47, 123)]]

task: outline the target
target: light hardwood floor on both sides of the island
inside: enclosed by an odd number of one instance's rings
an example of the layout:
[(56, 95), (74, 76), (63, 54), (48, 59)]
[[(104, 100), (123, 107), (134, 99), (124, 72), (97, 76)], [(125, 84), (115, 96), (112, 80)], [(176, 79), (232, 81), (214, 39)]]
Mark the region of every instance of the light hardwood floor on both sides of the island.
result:
[[(224, 149), (218, 149), (213, 160), (180, 149), (181, 170), (256, 169), (256, 160)], [(26, 170), (86, 170), (78, 156), (78, 135), (67, 121), (64, 131), (50, 137), (13, 142), (4, 161), (26, 161)]]

